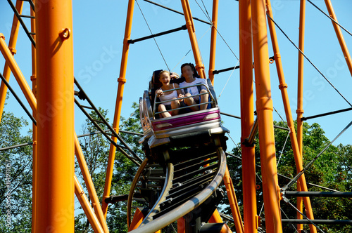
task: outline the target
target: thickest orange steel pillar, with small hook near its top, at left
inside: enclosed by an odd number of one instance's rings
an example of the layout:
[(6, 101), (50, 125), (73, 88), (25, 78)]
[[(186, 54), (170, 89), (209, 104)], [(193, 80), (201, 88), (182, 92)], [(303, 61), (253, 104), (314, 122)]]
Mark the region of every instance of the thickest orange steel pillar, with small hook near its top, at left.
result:
[(36, 13), (37, 232), (74, 232), (72, 2), (52, 0)]

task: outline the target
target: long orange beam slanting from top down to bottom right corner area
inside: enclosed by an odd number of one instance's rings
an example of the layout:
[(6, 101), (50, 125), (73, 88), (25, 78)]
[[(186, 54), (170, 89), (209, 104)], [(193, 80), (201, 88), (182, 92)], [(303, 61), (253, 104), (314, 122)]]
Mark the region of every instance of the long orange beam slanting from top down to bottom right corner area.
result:
[[(267, 2), (266, 9), (267, 9), (268, 16), (270, 16), (270, 18), (273, 18), (270, 0), (266, 0), (266, 2)], [(294, 159), (296, 161), (296, 170), (297, 170), (297, 173), (299, 173), (300, 171), (303, 170), (302, 157), (299, 152), (298, 142), (296, 138), (296, 131), (294, 129), (294, 120), (292, 119), (291, 107), (289, 105), (289, 94), (287, 93), (287, 84), (284, 79), (284, 70), (282, 69), (282, 61), (281, 61), (281, 55), (279, 53), (279, 44), (277, 43), (275, 24), (274, 22), (272, 22), (272, 20), (270, 20), (270, 18), (268, 17), (268, 25), (269, 25), (271, 41), (272, 41), (272, 50), (274, 51), (274, 55), (275, 55), (277, 74), (279, 76), (279, 89), (281, 90), (282, 100), (284, 102), (287, 125), (289, 126), (289, 129), (290, 129), (289, 135), (291, 139), (292, 150), (294, 152)], [(304, 174), (301, 175), (300, 177), (300, 187), (302, 191), (308, 192), (306, 178)], [(306, 206), (308, 218), (314, 219), (313, 210), (310, 204), (309, 197), (304, 197), (303, 201)], [(310, 225), (310, 232), (317, 232), (317, 229), (314, 225)]]

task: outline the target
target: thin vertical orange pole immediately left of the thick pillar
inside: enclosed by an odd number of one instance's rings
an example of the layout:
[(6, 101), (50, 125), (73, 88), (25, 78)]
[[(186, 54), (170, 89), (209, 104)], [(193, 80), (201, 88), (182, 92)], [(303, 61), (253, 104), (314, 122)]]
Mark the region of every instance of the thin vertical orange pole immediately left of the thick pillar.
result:
[[(35, 1), (33, 1), (35, 4)], [(30, 20), (31, 32), (35, 33), (35, 13), (33, 9), (30, 9), (30, 15), (34, 18)], [(35, 34), (32, 35), (35, 41)], [(34, 98), (37, 98), (37, 53), (35, 51), (34, 46), (32, 45), (32, 76), (30, 76), (30, 80), (32, 81), (32, 93), (34, 94)], [(37, 119), (37, 111), (33, 111), (34, 119)], [(37, 232), (36, 225), (34, 219), (36, 219), (37, 209), (34, 208), (37, 201), (37, 126), (33, 123), (33, 159), (32, 159), (32, 232)]]

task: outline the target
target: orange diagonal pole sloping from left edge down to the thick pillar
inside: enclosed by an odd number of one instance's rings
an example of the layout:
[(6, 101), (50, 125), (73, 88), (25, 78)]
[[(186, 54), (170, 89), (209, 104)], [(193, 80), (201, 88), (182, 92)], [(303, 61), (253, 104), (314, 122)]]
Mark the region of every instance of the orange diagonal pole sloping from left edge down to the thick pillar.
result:
[[(5, 36), (4, 34), (0, 33), (0, 51), (4, 55), (4, 58), (6, 60), (6, 64), (10, 67), (13, 76), (15, 76), (15, 79), (17, 80), (18, 84), (20, 85), (20, 88), (25, 95), (25, 98), (27, 99), (28, 103), (30, 104), (30, 107), (32, 108), (33, 111), (37, 109), (37, 100), (35, 100), (34, 94), (32, 93), (32, 90), (30, 89), (30, 86), (27, 84), (27, 81), (25, 81), (25, 77), (23, 76), (22, 72), (20, 71), (20, 68), (18, 67), (15, 58), (13, 58), (13, 55), (6, 45), (5, 41)], [(40, 123), (39, 123), (40, 124)]]

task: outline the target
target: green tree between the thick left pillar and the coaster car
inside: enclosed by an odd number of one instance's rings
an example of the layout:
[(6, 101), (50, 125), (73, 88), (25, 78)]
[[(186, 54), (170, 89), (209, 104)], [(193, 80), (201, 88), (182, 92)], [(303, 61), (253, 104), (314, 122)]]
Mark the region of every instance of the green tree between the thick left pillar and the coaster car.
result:
[[(139, 122), (139, 108), (137, 103), (132, 105), (133, 114), (129, 119), (121, 118), (120, 121), (120, 130), (122, 131), (131, 131), (134, 133), (141, 133), (142, 128)], [(106, 118), (108, 111), (99, 108), (101, 114)], [(91, 113), (91, 116), (94, 119), (97, 119), (97, 116), (94, 112)], [(108, 119), (106, 119), (108, 121)], [(104, 130), (107, 127), (103, 124), (99, 124)], [(83, 126), (83, 133), (90, 133), (97, 131), (95, 126), (88, 119)], [(143, 157), (142, 149), (139, 145), (139, 136), (132, 135), (129, 133), (120, 133), (120, 136), (123, 140), (130, 146), (130, 148), (139, 155)], [(101, 201), (103, 196), (103, 189), (105, 185), (106, 178), (106, 168), (108, 165), (108, 153), (110, 142), (102, 135), (95, 134), (90, 135), (89, 137), (84, 137), (80, 140), (84, 158), (87, 161), (87, 166), (89, 168), (89, 173), (92, 176), (94, 186), (96, 187), (96, 193)], [(113, 180), (111, 184), (111, 195), (120, 195), (128, 194), (130, 191), (130, 184), (134, 178), (138, 167), (127, 159), (119, 150), (115, 154), (115, 164), (113, 171)], [(83, 180), (82, 173), (80, 172), (79, 166), (76, 163), (76, 174), (80, 177), (80, 180)], [(82, 187), (85, 188), (84, 182), (82, 182)], [(86, 192), (88, 198), (88, 192)], [(80, 206), (78, 209), (82, 209)], [(107, 224), (110, 232), (127, 232), (127, 215), (126, 215), (126, 203), (120, 202), (116, 204), (110, 204), (108, 206), (107, 214)], [(82, 211), (78, 211), (82, 212)], [(75, 217), (75, 232), (93, 232), (92, 227), (89, 225), (84, 213), (80, 213)]]

